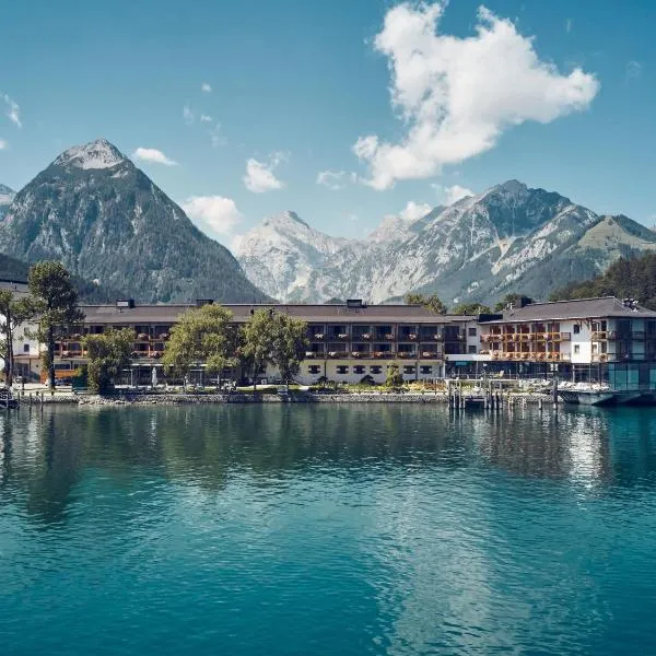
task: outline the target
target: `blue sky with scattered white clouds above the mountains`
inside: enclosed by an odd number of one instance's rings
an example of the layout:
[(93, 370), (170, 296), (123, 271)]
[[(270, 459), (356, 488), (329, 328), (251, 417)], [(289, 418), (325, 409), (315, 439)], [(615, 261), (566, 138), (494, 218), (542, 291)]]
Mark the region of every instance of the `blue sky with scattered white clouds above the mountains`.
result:
[(656, 223), (656, 3), (5, 3), (0, 183), (106, 138), (227, 246), (361, 237), (506, 179)]

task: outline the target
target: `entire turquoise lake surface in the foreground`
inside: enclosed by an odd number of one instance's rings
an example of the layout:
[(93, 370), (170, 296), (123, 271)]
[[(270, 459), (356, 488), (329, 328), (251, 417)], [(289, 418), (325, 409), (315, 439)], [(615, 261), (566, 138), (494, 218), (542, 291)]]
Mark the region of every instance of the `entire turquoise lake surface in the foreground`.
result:
[(656, 654), (656, 412), (0, 415), (3, 654)]

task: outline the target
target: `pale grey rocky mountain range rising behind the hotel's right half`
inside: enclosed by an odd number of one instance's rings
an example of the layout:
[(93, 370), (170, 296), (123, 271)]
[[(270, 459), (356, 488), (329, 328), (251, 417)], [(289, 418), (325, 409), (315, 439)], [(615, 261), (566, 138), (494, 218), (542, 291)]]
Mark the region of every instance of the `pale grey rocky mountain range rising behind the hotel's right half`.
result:
[[(298, 219), (298, 221), (301, 221)], [(313, 241), (327, 237), (306, 226)], [(259, 227), (251, 233), (257, 233)], [(278, 239), (270, 225), (270, 242)], [(251, 280), (254, 262), (265, 259), (268, 284), (277, 288), (278, 262), (285, 262), (285, 285), (278, 296), (323, 302), (331, 296), (372, 303), (409, 291), (437, 293), (445, 303), (493, 303), (514, 291), (544, 297), (559, 286), (590, 278), (620, 255), (656, 247), (656, 234), (626, 216), (604, 216), (543, 189), (508, 180), (483, 194), (435, 208), (418, 221), (387, 218), (364, 241), (331, 239), (332, 250), (316, 259), (307, 274), (303, 242), (280, 241), (276, 250), (249, 244), (237, 257)], [(302, 238), (302, 235), (300, 235)], [(290, 284), (289, 281), (293, 281)]]

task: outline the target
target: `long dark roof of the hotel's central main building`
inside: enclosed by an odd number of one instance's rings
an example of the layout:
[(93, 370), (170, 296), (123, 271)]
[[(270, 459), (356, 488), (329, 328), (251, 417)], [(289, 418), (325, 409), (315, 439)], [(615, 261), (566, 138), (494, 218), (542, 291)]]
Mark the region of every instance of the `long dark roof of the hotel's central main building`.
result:
[[(81, 309), (87, 324), (169, 324), (186, 309), (196, 305), (136, 305), (116, 307), (115, 305), (82, 305)], [(248, 320), (251, 309), (274, 308), (307, 323), (349, 324), (448, 324), (466, 321), (476, 317), (460, 315), (435, 315), (413, 305), (368, 305), (347, 308), (345, 305), (282, 305), (282, 304), (242, 304), (224, 305), (233, 313), (234, 320)]]

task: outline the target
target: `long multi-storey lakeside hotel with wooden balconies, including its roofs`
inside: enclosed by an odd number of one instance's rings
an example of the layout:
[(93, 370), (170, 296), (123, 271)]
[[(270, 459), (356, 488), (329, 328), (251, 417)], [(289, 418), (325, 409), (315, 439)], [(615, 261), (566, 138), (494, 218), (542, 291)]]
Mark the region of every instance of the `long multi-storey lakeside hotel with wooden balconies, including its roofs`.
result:
[[(83, 305), (83, 324), (57, 344), (58, 376), (66, 377), (85, 364), (85, 335), (129, 328), (134, 331), (134, 344), (124, 382), (149, 384), (153, 368), (157, 379), (164, 380), (161, 358), (171, 329), (184, 312), (209, 302)], [(304, 320), (308, 342), (296, 379), (306, 385), (319, 379), (359, 383), (365, 377), (384, 383), (394, 363), (406, 380), (488, 375), (609, 380), (623, 372), (624, 377), (656, 386), (656, 373), (649, 366), (656, 363), (656, 313), (629, 300), (532, 303), (524, 298), (503, 313), (480, 316), (435, 315), (423, 307), (370, 306), (361, 301), (225, 307), (235, 326), (262, 308)], [(43, 377), (38, 344), (19, 339), (14, 351), (16, 374), (27, 379)], [(225, 372), (232, 377), (243, 374), (251, 372)], [(276, 382), (278, 372), (268, 366), (258, 378)], [(192, 368), (190, 379), (209, 382), (202, 363)]]

